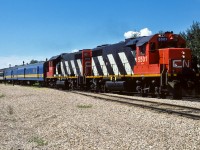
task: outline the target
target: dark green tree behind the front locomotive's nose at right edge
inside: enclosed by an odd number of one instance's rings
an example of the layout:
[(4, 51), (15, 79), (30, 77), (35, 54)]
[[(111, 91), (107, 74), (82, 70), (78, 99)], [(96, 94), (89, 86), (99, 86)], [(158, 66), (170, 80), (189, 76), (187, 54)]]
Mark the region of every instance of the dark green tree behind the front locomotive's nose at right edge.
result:
[(186, 40), (187, 47), (192, 50), (195, 61), (200, 63), (200, 22), (193, 22), (190, 28), (180, 34)]

